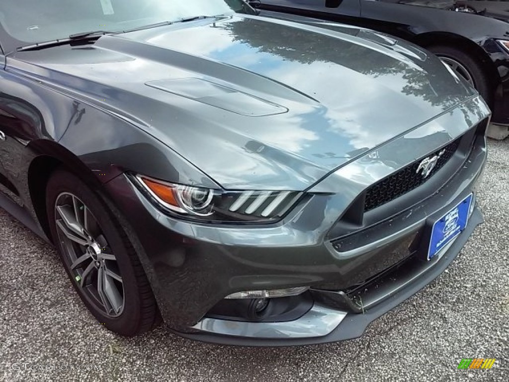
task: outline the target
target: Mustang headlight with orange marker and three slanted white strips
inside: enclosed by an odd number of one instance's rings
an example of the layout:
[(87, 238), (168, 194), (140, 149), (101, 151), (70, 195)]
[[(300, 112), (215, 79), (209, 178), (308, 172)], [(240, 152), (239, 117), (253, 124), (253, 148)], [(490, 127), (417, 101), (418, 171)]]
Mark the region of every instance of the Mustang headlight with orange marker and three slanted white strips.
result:
[(209, 222), (273, 222), (303, 196), (293, 191), (225, 192), (168, 183), (144, 175), (136, 175), (133, 180), (165, 210)]

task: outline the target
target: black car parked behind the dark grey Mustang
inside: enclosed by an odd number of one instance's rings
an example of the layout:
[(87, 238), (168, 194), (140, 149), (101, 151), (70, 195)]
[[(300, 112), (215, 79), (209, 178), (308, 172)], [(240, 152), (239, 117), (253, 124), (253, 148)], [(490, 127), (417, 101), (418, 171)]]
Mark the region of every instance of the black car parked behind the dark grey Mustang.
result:
[(265, 16), (274, 16), (271, 12), (277, 11), (343, 22), (424, 47), (479, 91), (493, 110), (493, 123), (509, 124), (509, 5), (506, 2), (257, 0), (251, 3), (270, 11), (262, 11)]

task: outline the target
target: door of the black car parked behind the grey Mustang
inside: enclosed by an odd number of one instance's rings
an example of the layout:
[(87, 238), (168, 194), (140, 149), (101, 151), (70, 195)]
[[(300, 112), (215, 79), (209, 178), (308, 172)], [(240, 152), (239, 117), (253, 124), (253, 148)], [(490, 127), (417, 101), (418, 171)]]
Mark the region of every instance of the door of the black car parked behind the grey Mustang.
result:
[(360, 0), (261, 0), (261, 8), (345, 23), (360, 16)]

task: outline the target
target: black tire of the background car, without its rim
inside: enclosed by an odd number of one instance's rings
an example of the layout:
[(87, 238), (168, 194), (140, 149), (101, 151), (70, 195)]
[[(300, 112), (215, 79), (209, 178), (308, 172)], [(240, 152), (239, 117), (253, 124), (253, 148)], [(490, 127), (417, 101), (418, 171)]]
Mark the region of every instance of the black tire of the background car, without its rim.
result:
[[(476, 59), (472, 58), (469, 53), (450, 46), (432, 45), (428, 46), (427, 49), (436, 54), (440, 59), (454, 60), (462, 65), (470, 75), (474, 88), (477, 89), (479, 94), (490, 106), (492, 105), (494, 94), (490, 86), (488, 74), (485, 73), (482, 65)], [(465, 78), (465, 76), (463, 76), (463, 78)]]

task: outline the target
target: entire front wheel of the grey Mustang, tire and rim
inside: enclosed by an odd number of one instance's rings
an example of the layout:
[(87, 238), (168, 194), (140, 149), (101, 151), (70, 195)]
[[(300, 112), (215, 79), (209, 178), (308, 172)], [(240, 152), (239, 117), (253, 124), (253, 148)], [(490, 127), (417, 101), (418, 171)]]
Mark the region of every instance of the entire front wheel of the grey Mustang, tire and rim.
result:
[(97, 320), (124, 336), (155, 326), (159, 313), (142, 265), (99, 197), (58, 170), (47, 183), (46, 208), (65, 269)]

